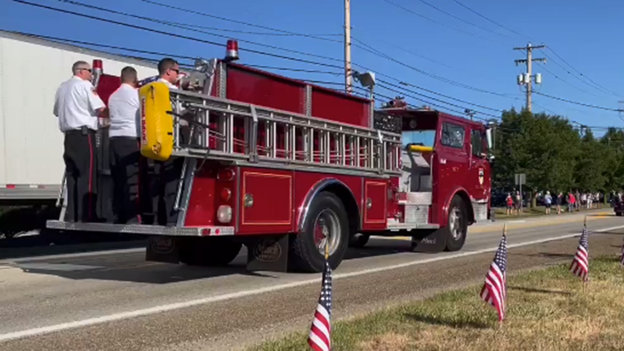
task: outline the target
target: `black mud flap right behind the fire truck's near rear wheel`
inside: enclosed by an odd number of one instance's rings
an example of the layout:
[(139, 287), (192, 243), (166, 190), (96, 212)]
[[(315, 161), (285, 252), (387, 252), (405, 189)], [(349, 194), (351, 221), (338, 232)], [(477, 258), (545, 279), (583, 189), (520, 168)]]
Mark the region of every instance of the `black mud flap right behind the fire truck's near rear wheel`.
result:
[(287, 234), (259, 238), (247, 244), (247, 270), (249, 271), (288, 271)]

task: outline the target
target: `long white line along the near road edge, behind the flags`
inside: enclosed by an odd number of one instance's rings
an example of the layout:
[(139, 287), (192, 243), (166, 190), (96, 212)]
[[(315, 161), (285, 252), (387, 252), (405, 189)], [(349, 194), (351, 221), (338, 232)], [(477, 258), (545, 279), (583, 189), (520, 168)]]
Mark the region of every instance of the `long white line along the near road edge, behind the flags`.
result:
[[(611, 230), (622, 229), (622, 228), (624, 228), (624, 225), (617, 226), (617, 227), (603, 228), (599, 230), (592, 230), (590, 231), (590, 233), (591, 232), (595, 232), (595, 233), (608, 232)], [(545, 243), (549, 241), (573, 238), (575, 236), (580, 236), (580, 233), (566, 234), (566, 235), (561, 235), (561, 236), (552, 237), (552, 238), (545, 238), (545, 239), (540, 239), (540, 240), (532, 240), (532, 241), (527, 241), (523, 243), (508, 245), (507, 247), (511, 249), (511, 248), (516, 248), (516, 247), (541, 244), (541, 243)], [(338, 273), (338, 274), (333, 275), (333, 279), (337, 280), (337, 279), (344, 279), (344, 278), (350, 278), (350, 277), (357, 277), (361, 275), (379, 273), (379, 272), (405, 268), (405, 267), (410, 267), (410, 266), (415, 266), (415, 265), (420, 265), (420, 264), (450, 260), (450, 259), (466, 257), (466, 256), (474, 256), (474, 255), (479, 255), (483, 253), (494, 252), (496, 251), (496, 249), (498, 249), (498, 245), (487, 248), (487, 249), (481, 249), (481, 250), (476, 250), (476, 251), (466, 251), (463, 253), (444, 255), (444, 256), (439, 256), (439, 257), (434, 257), (434, 258), (429, 258), (429, 259), (424, 259), (424, 260), (415, 260), (415, 261), (396, 264), (392, 266), (365, 269), (365, 270), (351, 272), (351, 273), (343, 273), (343, 274)], [(241, 298), (241, 297), (259, 295), (259, 294), (264, 294), (264, 293), (269, 293), (269, 292), (274, 292), (274, 291), (279, 291), (279, 290), (284, 290), (284, 289), (289, 289), (289, 288), (296, 288), (296, 287), (300, 287), (300, 286), (304, 286), (308, 284), (318, 283), (320, 280), (321, 278), (307, 279), (307, 280), (302, 280), (302, 281), (297, 281), (297, 282), (292, 282), (292, 283), (275, 285), (271, 287), (240, 291), (236, 293), (229, 293), (229, 294), (223, 294), (223, 295), (218, 295), (218, 296), (211, 296), (211, 297), (206, 297), (202, 299), (166, 304), (166, 305), (145, 308), (145, 309), (140, 309), (140, 310), (135, 310), (135, 311), (114, 313), (114, 314), (110, 314), (106, 316), (88, 318), (88, 319), (83, 319), (83, 320), (74, 321), (74, 322), (61, 323), (61, 324), (55, 324), (55, 325), (50, 325), (46, 327), (26, 329), (26, 330), (17, 331), (17, 332), (0, 334), (0, 342), (6, 342), (9, 340), (21, 339), (21, 338), (42, 335), (42, 334), (49, 334), (49, 333), (54, 333), (54, 332), (58, 332), (62, 330), (87, 327), (87, 326), (92, 326), (96, 324), (114, 322), (114, 321), (119, 321), (123, 319), (142, 317), (142, 316), (147, 316), (147, 315), (152, 315), (152, 314), (157, 314), (157, 313), (162, 313), (162, 312), (178, 310), (182, 308), (188, 308), (188, 307), (197, 306), (197, 305), (204, 305), (204, 304), (209, 304), (209, 303), (214, 303), (214, 302), (219, 302), (219, 301), (224, 301), (224, 300), (231, 300), (231, 299), (236, 299), (236, 298)]]

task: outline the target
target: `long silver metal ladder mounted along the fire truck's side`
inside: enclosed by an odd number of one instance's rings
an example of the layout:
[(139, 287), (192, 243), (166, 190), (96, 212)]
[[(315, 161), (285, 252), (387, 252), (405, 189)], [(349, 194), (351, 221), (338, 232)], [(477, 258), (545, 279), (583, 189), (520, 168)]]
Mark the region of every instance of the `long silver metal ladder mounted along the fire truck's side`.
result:
[[(360, 176), (401, 174), (401, 134), (190, 91), (170, 95), (173, 115), (190, 125), (188, 138), (181, 138), (179, 119), (174, 126), (172, 156), (186, 158), (175, 202), (180, 212), (186, 211), (202, 159)], [(184, 217), (180, 213), (178, 225)]]

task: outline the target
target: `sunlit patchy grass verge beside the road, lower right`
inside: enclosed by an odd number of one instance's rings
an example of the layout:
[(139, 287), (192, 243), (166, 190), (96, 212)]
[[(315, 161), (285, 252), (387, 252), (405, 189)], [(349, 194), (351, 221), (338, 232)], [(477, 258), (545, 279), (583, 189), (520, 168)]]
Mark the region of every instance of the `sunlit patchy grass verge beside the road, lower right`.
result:
[[(615, 257), (590, 267), (585, 292), (567, 264), (512, 277), (500, 326), (479, 285), (334, 323), (332, 351), (624, 350), (624, 270)], [(250, 350), (308, 350), (306, 337), (307, 330)]]

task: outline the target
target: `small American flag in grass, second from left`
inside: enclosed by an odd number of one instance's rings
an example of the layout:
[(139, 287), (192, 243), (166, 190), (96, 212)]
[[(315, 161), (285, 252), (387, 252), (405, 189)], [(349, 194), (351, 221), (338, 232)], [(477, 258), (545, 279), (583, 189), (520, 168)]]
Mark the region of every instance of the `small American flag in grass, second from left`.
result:
[(481, 299), (496, 308), (499, 321), (505, 319), (507, 300), (507, 236), (505, 234), (498, 245), (490, 270), (485, 276)]

